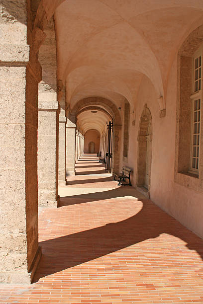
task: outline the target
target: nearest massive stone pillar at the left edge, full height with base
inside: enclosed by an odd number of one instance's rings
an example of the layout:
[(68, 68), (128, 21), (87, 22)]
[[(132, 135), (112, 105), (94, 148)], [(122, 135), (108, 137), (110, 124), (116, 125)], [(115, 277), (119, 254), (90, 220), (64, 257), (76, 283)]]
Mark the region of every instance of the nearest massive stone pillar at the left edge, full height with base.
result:
[[(3, 15), (0, 18), (0, 282), (28, 284), (41, 255), (37, 212), (37, 102), (41, 67), (30, 46), (32, 28), (27, 2), (3, 3), (0, 4)], [(12, 11), (17, 12), (20, 21), (11, 15)]]

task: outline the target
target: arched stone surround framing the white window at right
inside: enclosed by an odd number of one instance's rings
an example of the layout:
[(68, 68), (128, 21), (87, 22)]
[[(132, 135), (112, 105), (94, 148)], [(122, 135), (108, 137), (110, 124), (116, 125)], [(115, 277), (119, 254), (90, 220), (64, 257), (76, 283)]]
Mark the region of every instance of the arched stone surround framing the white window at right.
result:
[[(177, 59), (176, 151), (174, 181), (187, 188), (203, 192), (203, 111), (201, 111), (199, 175), (190, 171), (191, 116), (193, 93), (193, 57), (203, 44), (203, 25), (185, 40)], [(201, 89), (203, 107), (203, 87)]]

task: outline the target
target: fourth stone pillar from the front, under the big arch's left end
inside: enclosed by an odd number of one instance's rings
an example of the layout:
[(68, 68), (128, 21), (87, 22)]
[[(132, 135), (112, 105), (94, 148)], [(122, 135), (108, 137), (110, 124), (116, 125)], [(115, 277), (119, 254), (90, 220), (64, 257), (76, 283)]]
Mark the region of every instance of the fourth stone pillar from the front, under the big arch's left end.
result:
[(66, 124), (66, 175), (75, 175), (76, 124), (67, 119)]

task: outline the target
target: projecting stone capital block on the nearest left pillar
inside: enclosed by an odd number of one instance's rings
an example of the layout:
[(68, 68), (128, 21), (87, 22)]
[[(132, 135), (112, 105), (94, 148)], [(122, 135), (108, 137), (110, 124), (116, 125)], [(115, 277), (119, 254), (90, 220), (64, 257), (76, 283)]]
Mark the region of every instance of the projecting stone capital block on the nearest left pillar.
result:
[(25, 66), (29, 62), (30, 46), (28, 44), (0, 45), (0, 65), (18, 64)]

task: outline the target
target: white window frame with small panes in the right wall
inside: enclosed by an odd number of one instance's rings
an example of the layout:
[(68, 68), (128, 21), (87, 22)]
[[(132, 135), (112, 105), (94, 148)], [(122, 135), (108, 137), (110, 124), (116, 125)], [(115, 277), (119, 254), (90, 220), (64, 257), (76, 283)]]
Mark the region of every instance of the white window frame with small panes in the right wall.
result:
[[(195, 60), (201, 56), (201, 88), (195, 91)], [(203, 45), (197, 50), (193, 57), (193, 94), (191, 95), (191, 153), (190, 153), (190, 173), (199, 175), (199, 164), (200, 164), (200, 139), (199, 139), (199, 155), (198, 155), (198, 168), (193, 168), (193, 140), (194, 140), (194, 105), (195, 101), (200, 99), (200, 138), (201, 138), (201, 111), (202, 111), (202, 90), (203, 90)], [(197, 154), (196, 154), (197, 158)]]

